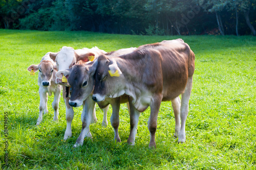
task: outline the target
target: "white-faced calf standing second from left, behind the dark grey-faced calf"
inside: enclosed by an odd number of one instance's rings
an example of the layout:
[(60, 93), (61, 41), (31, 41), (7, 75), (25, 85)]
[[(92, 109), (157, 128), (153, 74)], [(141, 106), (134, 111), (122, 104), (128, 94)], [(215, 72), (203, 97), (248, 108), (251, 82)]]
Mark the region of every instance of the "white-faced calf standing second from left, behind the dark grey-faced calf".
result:
[[(53, 61), (56, 62), (57, 70), (66, 70), (71, 68), (76, 63), (87, 63), (94, 61), (100, 54), (105, 54), (103, 50), (99, 50), (98, 47), (83, 48), (82, 50), (74, 50), (72, 47), (63, 46), (61, 50), (57, 53), (50, 53), (50, 57)], [(57, 75), (56, 75), (57, 76)], [(69, 105), (70, 99), (70, 85), (68, 82), (62, 82), (62, 77), (56, 79), (56, 83), (62, 85), (63, 87), (63, 99), (66, 105), (66, 120), (67, 120), (67, 128), (64, 135), (64, 140), (67, 140), (68, 137), (72, 136), (71, 124), (74, 118), (74, 110)], [(66, 89), (66, 90), (65, 90)], [(103, 125), (107, 125), (106, 120), (106, 112), (108, 108), (104, 110), (104, 118), (103, 118)], [(95, 109), (93, 113), (92, 123), (97, 122), (97, 117), (95, 115)]]

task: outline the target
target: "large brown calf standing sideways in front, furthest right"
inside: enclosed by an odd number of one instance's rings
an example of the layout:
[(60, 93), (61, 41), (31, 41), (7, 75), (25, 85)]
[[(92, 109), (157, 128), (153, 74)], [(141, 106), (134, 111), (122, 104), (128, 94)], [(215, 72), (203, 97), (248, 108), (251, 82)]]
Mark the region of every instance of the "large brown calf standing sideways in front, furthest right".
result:
[(95, 69), (95, 102), (123, 94), (130, 96), (131, 131), (127, 142), (132, 145), (135, 143), (140, 112), (150, 106), (147, 123), (150, 131), (149, 147), (156, 147), (157, 116), (162, 101), (172, 101), (176, 120), (175, 136), (179, 136), (178, 142), (185, 142), (195, 55), (182, 39), (142, 45), (133, 53), (119, 57), (101, 55), (92, 67)]

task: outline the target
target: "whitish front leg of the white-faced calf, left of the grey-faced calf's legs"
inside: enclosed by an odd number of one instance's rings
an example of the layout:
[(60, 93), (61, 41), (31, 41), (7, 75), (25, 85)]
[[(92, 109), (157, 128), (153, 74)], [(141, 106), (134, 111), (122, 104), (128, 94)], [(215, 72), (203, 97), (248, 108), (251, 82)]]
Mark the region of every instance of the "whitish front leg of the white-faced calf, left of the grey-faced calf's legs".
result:
[(66, 121), (67, 121), (67, 128), (64, 134), (64, 140), (67, 140), (69, 137), (72, 136), (72, 129), (71, 129), (71, 125), (72, 125), (72, 120), (74, 118), (74, 110), (73, 108), (69, 105), (69, 97), (66, 98), (66, 94), (65, 92), (63, 92), (63, 99), (65, 101), (65, 105), (66, 105)]

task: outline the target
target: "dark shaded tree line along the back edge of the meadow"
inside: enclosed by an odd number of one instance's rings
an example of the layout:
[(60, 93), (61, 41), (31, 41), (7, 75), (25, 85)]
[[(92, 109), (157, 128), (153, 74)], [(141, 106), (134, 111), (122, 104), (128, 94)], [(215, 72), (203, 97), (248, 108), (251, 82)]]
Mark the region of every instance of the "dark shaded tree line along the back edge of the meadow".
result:
[(0, 0), (0, 28), (256, 35), (256, 0)]

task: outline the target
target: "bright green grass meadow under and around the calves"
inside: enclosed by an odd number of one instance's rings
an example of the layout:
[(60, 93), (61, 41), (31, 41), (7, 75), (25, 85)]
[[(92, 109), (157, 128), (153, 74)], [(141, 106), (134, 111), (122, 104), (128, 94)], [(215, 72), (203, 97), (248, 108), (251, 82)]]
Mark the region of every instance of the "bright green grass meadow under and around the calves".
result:
[[(62, 46), (98, 46), (107, 52), (146, 43), (182, 38), (196, 55), (193, 90), (186, 122), (186, 142), (173, 137), (175, 119), (170, 102), (162, 103), (156, 134), (157, 149), (148, 149), (147, 119), (141, 114), (136, 145), (126, 144), (130, 119), (120, 109), (120, 138), (113, 141), (110, 125), (90, 129), (72, 148), (81, 130), (81, 108), (75, 108), (73, 136), (62, 141), (66, 129), (65, 105), (60, 101), (59, 122), (49, 113), (35, 126), (39, 112), (37, 74), (27, 67), (47, 52)], [(39, 32), (0, 30), (0, 169), (256, 169), (256, 37), (251, 36), (135, 36), (90, 32)], [(4, 112), (8, 112), (9, 167), (4, 167)]]

